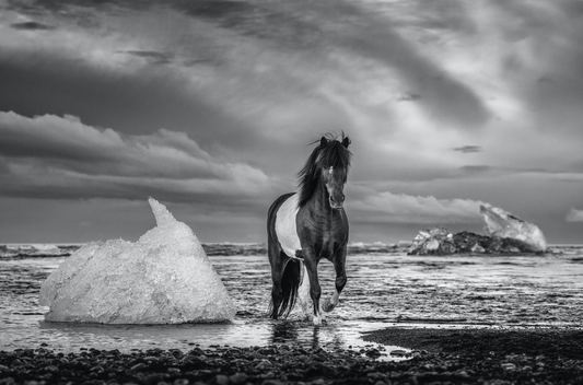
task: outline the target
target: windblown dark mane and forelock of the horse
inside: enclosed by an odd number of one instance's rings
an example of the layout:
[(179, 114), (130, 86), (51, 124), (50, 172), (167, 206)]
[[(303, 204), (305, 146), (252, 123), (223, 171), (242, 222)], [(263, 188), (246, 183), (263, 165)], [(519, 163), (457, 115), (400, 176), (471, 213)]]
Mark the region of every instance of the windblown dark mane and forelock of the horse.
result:
[[(348, 150), (348, 144), (350, 144), (350, 139), (345, 137), (342, 132), (342, 140), (339, 141), (337, 137), (331, 133), (326, 133), (323, 140), (316, 140), (310, 144), (319, 143), (307, 161), (305, 162), (304, 167), (298, 173), (298, 187), (300, 189), (300, 199), (299, 207), (304, 206), (319, 183), (319, 171), (322, 167), (335, 167), (346, 170), (350, 167), (350, 159), (352, 156), (351, 152)], [(326, 139), (326, 141), (324, 140)], [(342, 144), (346, 142), (347, 145)]]

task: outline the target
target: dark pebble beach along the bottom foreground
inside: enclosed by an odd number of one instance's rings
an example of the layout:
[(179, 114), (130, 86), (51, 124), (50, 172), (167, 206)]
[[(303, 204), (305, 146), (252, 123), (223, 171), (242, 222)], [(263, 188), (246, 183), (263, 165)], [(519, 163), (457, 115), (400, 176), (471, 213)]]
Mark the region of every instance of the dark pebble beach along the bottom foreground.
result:
[[(583, 329), (388, 327), (364, 334), (360, 351), (287, 345), (234, 348), (0, 350), (0, 384), (580, 384)], [(374, 345), (373, 345), (374, 343)], [(411, 348), (381, 361), (376, 343)]]

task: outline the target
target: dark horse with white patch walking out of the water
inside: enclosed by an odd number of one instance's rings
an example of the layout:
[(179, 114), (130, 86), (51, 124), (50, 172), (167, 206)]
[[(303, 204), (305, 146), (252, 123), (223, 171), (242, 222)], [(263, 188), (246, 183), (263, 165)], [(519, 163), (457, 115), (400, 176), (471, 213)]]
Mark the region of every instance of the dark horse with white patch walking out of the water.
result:
[[(350, 139), (323, 137), (299, 173), (299, 191), (279, 197), (267, 218), (268, 256), (271, 265), (270, 316), (287, 317), (299, 296), (307, 316), (307, 292), (314, 306), (314, 325), (322, 311), (330, 312), (345, 288), (348, 218), (342, 208), (343, 187), (350, 167)], [(317, 267), (322, 258), (334, 264), (336, 292), (320, 307)], [(302, 275), (302, 266), (307, 272)], [(307, 282), (310, 281), (310, 287)], [(301, 284), (301, 288), (300, 288)]]

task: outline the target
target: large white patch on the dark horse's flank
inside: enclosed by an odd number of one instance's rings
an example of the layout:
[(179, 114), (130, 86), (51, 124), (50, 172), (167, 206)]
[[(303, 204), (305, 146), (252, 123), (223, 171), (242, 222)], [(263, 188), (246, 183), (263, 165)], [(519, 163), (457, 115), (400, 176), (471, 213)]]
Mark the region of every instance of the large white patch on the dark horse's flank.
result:
[(296, 258), (295, 250), (302, 248), (295, 225), (295, 217), (300, 210), (298, 199), (298, 194), (292, 195), (279, 207), (276, 213), (276, 234), (281, 249), (290, 258)]

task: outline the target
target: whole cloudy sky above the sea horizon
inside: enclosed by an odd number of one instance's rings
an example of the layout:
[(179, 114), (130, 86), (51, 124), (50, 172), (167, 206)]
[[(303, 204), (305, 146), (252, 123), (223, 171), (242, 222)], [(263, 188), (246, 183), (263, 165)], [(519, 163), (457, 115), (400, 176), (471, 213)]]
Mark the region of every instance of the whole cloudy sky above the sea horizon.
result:
[(312, 142), (350, 137), (350, 242), (583, 243), (580, 0), (0, 0), (0, 242), (266, 242)]

